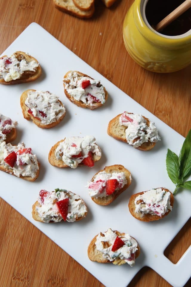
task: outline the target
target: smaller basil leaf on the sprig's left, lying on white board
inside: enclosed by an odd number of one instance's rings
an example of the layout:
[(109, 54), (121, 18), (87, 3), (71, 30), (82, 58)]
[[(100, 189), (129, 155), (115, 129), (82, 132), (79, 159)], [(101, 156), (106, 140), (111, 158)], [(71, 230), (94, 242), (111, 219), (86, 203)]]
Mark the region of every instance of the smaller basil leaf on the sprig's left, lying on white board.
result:
[(168, 149), (166, 158), (167, 173), (173, 183), (177, 183), (180, 176), (180, 167), (178, 164), (178, 156)]

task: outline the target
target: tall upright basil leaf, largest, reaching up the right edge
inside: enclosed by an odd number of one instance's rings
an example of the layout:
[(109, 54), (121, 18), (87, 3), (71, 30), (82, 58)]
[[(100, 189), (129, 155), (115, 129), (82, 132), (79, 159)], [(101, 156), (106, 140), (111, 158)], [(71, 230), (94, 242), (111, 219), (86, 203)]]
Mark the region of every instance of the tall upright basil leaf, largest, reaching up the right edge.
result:
[(191, 175), (191, 129), (182, 145), (178, 158), (180, 178), (183, 180)]

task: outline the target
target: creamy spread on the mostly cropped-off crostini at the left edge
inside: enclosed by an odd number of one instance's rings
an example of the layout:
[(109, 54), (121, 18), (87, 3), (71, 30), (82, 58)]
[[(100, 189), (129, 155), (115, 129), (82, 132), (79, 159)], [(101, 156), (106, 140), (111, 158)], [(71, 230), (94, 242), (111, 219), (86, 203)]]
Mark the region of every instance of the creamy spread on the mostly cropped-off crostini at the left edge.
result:
[(6, 140), (6, 135), (17, 126), (16, 121), (12, 121), (10, 117), (0, 114), (0, 143)]

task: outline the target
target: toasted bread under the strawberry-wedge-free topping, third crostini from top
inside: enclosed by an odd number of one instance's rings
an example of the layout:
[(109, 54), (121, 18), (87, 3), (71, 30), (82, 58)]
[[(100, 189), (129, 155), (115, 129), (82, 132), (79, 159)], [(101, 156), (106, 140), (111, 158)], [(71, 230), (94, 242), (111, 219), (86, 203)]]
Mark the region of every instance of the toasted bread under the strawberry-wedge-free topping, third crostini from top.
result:
[[(36, 91), (36, 90), (30, 89), (30, 90), (24, 91), (21, 94), (21, 99), (20, 99), (21, 109), (22, 109), (22, 113), (23, 113), (24, 118), (26, 120), (31, 119), (33, 121), (33, 123), (35, 123), (41, 129), (50, 129), (50, 128), (53, 128), (54, 126), (57, 126), (58, 123), (60, 123), (61, 120), (64, 118), (66, 113), (64, 113), (58, 120), (56, 120), (56, 122), (50, 123), (48, 125), (42, 124), (40, 120), (36, 119), (35, 117), (33, 117), (33, 115), (28, 113), (28, 107), (25, 105), (25, 100), (27, 99), (27, 93), (29, 91)], [(58, 102), (63, 106), (63, 104), (60, 100), (58, 100)]]

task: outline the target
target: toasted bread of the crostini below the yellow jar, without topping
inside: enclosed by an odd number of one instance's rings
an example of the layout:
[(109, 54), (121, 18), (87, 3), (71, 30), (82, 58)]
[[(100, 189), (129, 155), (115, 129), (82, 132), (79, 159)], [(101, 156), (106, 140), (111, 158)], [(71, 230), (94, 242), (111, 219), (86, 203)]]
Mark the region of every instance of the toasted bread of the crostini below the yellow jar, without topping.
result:
[[(119, 123), (119, 118), (122, 114), (117, 115), (112, 120), (110, 120), (108, 127), (107, 127), (107, 133), (111, 137), (115, 138), (118, 141), (124, 141), (127, 143), (126, 136), (125, 136), (125, 130), (127, 129), (127, 126), (121, 126)], [(143, 116), (144, 117), (144, 116)], [(144, 119), (147, 121), (147, 126), (150, 125), (150, 120), (147, 119), (147, 117), (144, 117)], [(141, 144), (139, 147), (135, 147), (136, 149), (140, 149), (143, 151), (147, 151), (150, 149), (153, 149), (156, 143), (152, 143), (148, 141), (147, 143)]]

